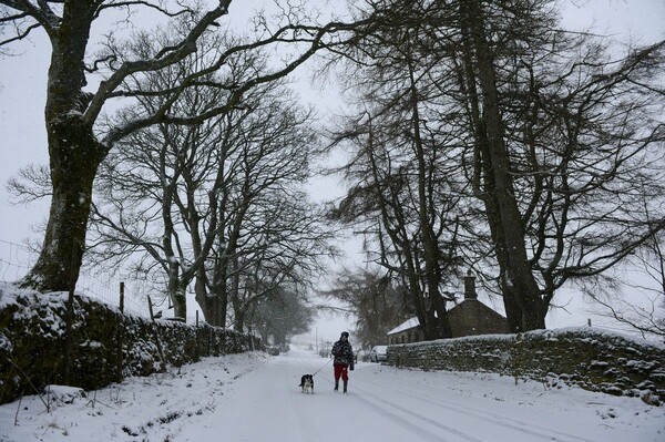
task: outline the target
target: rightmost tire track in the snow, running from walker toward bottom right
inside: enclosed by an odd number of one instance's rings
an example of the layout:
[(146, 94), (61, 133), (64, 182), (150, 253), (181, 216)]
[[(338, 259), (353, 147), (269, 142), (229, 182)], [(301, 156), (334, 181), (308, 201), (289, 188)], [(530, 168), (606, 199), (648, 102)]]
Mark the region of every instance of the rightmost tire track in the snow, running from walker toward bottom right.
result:
[[(573, 435), (573, 434), (569, 434), (569, 433), (564, 433), (562, 431), (557, 431), (557, 430), (552, 430), (545, 426), (541, 426), (541, 425), (536, 425), (533, 423), (526, 423), (523, 421), (519, 421), (516, 419), (513, 418), (509, 418), (502, 414), (497, 414), (497, 413), (492, 413), (492, 412), (488, 412), (484, 410), (478, 410), (468, 405), (461, 405), (457, 402), (450, 402), (450, 401), (446, 401), (446, 400), (441, 400), (440, 398), (434, 398), (431, 395), (421, 395), (421, 394), (415, 394), (410, 391), (407, 390), (402, 390), (402, 389), (398, 389), (396, 387), (392, 386), (386, 386), (381, 382), (377, 382), (377, 381), (371, 381), (368, 379), (359, 379), (361, 382), (367, 382), (367, 383), (371, 383), (378, 387), (381, 387), (383, 389), (388, 389), (388, 390), (392, 390), (397, 393), (400, 394), (405, 394), (408, 395), (410, 398), (415, 398), (418, 399), (422, 402), (429, 403), (429, 404), (433, 404), (437, 407), (441, 407), (444, 408), (447, 410), (451, 410), (454, 412), (460, 412), (460, 411), (464, 411), (468, 415), (473, 415), (474, 418), (481, 419), (483, 421), (491, 421), (498, 425), (504, 426), (504, 428), (509, 428), (512, 430), (518, 430), (521, 431), (523, 433), (530, 434), (530, 435), (534, 435), (538, 438), (542, 438), (545, 439), (548, 441), (559, 441), (559, 442), (567, 442), (567, 441), (576, 441), (576, 442), (597, 442), (597, 441), (593, 441), (591, 439), (585, 439), (585, 438), (581, 438), (577, 435)], [(509, 421), (511, 423), (508, 423), (505, 421)], [(560, 438), (564, 438), (564, 439), (560, 439)]]

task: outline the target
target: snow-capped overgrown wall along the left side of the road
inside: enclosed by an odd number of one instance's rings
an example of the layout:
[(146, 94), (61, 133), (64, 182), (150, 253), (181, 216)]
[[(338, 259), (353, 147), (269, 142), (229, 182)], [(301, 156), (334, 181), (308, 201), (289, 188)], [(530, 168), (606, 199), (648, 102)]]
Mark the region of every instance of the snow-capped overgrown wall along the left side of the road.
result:
[[(0, 306), (0, 403), (63, 383), (66, 294), (25, 292)], [(99, 389), (167, 364), (263, 349), (255, 337), (218, 327), (122, 315), (96, 300), (74, 299), (70, 384)]]

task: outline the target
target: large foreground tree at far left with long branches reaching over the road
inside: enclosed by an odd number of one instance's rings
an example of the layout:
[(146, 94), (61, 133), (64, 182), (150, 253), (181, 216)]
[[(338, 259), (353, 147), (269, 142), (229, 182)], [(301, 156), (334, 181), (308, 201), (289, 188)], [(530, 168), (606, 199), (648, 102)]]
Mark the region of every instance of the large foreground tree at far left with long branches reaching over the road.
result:
[[(181, 78), (171, 88), (163, 91), (132, 88), (132, 84), (140, 84), (134, 79), (171, 69), (195, 53), (198, 39), (218, 27), (217, 20), (227, 13), (229, 3), (231, 0), (219, 0), (217, 7), (200, 13), (195, 10), (195, 2), (188, 1), (0, 1), (0, 49), (9, 48), (35, 30), (43, 30), (52, 47), (45, 125), (53, 193), (41, 255), (22, 285), (42, 290), (63, 290), (71, 280), (78, 279), (93, 181), (99, 165), (117, 142), (157, 123), (190, 124), (223, 114), (238, 105), (252, 88), (287, 75), (316, 51), (331, 47), (330, 35), (351, 28), (339, 22), (324, 27), (296, 24), (299, 18), (294, 11), (287, 11), (286, 24), (272, 30), (267, 21), (262, 22), (265, 25), (262, 40), (221, 53), (211, 64)], [(88, 56), (95, 53), (90, 44), (93, 25), (103, 23), (113, 12), (126, 13), (127, 21), (140, 12), (162, 18), (185, 18), (183, 21), (188, 23), (188, 32), (172, 44), (155, 48), (145, 58), (123, 53), (123, 47), (113, 44), (113, 38), (104, 50)], [(262, 72), (241, 84), (227, 85), (227, 100), (214, 109), (196, 116), (172, 112), (173, 103), (184, 91), (196, 85), (202, 76), (222, 69), (231, 54), (259, 47), (283, 45), (290, 48), (283, 63), (275, 63), (272, 71)], [(99, 85), (93, 88), (92, 84)], [(86, 88), (93, 91), (88, 92)], [(162, 104), (151, 113), (125, 114), (125, 119), (120, 120), (122, 124), (99, 125), (100, 115), (109, 104), (122, 106), (146, 96), (160, 96)]]

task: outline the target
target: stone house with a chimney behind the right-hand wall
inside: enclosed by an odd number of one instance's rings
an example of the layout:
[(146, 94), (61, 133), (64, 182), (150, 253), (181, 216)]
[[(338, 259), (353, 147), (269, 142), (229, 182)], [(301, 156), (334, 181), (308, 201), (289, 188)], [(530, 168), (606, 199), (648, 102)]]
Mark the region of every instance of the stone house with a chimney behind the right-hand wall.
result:
[[(453, 338), (474, 335), (508, 333), (508, 320), (478, 300), (475, 277), (464, 277), (464, 300), (448, 310)], [(424, 333), (418, 318), (411, 318), (387, 333), (388, 345), (419, 342)]]

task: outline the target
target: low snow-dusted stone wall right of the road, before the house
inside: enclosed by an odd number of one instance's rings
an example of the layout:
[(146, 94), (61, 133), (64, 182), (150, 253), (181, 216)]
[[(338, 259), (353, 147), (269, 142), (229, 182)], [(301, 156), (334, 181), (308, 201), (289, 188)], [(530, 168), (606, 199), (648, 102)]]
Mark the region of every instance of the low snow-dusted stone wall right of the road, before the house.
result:
[(575, 328), (388, 347), (388, 363), (422, 370), (495, 372), (615, 395), (665, 400), (665, 346)]

